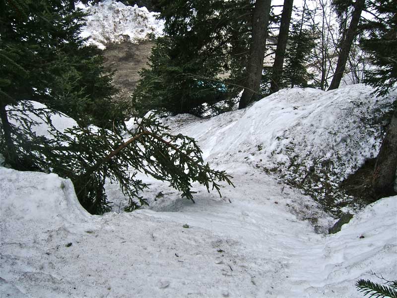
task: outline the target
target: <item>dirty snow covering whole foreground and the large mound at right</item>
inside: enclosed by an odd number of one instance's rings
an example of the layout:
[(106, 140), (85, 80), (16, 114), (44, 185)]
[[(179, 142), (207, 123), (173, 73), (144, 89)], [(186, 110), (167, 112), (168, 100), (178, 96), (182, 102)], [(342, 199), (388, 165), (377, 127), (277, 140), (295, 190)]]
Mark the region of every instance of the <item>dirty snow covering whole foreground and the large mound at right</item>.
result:
[(341, 179), (376, 154), (382, 128), (363, 119), (394, 95), (371, 91), (282, 90), (245, 111), (162, 119), (234, 177), (222, 198), (195, 185), (195, 204), (139, 177), (148, 209), (118, 213), (126, 198), (108, 184), (115, 212), (92, 216), (69, 180), (0, 168), (1, 297), (362, 297), (354, 283), (379, 282), (371, 270), (396, 279), (397, 196), (325, 235), (335, 220), (284, 183), (326, 158)]

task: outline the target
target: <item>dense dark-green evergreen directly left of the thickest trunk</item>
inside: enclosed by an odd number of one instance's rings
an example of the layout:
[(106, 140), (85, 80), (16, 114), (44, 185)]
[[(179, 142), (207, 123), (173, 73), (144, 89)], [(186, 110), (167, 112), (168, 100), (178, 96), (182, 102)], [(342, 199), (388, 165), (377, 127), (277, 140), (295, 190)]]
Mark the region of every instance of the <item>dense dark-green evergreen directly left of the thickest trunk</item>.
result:
[[(134, 99), (144, 113), (202, 115), (230, 109), (244, 80), (249, 0), (165, 0), (165, 36), (156, 41)], [(227, 73), (227, 74), (226, 74)], [(221, 80), (221, 76), (228, 77)], [(220, 111), (219, 111), (220, 109)]]

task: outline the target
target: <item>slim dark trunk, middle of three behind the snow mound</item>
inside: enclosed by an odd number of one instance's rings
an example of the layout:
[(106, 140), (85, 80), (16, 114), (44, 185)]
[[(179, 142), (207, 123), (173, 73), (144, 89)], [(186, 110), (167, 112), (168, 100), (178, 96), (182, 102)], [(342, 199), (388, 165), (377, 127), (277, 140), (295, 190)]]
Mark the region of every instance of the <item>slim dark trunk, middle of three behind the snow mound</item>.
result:
[(270, 92), (277, 92), (282, 75), (282, 65), (284, 63), (285, 49), (287, 47), (289, 24), (291, 22), (291, 14), (294, 0), (284, 0), (282, 7), (280, 31), (277, 38), (277, 48), (273, 63), (273, 74), (270, 82)]

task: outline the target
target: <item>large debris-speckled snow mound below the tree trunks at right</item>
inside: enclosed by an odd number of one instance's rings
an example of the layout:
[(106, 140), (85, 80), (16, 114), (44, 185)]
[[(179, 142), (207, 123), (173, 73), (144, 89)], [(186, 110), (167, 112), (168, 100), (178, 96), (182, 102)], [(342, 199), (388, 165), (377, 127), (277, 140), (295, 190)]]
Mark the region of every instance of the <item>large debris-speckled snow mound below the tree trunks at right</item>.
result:
[[(211, 119), (164, 120), (195, 137), (209, 162), (246, 161), (314, 193), (334, 196), (337, 184), (377, 156), (384, 129), (378, 120), (395, 95), (377, 98), (359, 84), (330, 92), (284, 89), (245, 111)], [(326, 190), (325, 190), (326, 189)]]

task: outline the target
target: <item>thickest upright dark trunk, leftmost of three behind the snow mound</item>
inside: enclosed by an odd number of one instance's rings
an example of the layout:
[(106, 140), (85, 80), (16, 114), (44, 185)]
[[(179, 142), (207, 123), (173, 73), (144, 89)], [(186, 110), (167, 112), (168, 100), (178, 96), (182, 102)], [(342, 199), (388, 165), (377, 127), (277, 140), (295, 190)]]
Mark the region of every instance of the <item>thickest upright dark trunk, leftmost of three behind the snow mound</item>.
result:
[(262, 70), (265, 58), (267, 25), (269, 22), (271, 0), (257, 0), (255, 2), (252, 22), (252, 39), (247, 64), (247, 79), (241, 96), (239, 109), (244, 109), (257, 97), (260, 90)]

